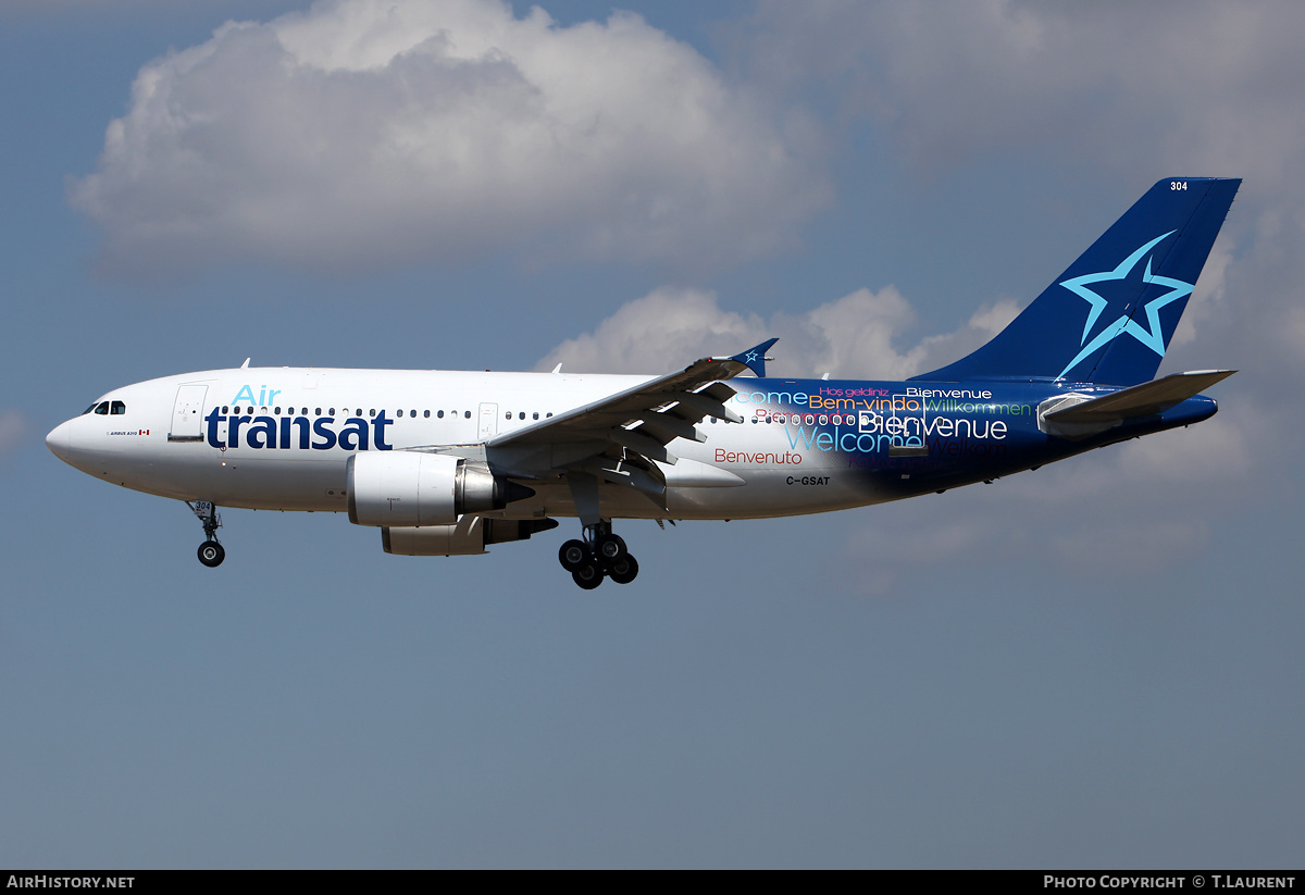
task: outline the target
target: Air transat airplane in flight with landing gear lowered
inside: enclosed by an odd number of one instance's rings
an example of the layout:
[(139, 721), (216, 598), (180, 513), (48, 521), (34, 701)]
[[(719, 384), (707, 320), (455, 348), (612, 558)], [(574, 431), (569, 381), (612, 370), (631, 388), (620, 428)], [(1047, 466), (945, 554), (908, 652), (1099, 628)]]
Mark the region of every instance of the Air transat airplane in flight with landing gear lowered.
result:
[[(664, 376), (252, 368), (115, 389), (46, 438), (70, 466), (218, 508), (348, 513), (388, 553), (485, 553), (576, 517), (559, 560), (629, 583), (613, 519), (902, 500), (1208, 419), (1236, 371), (1152, 380), (1240, 179), (1165, 177), (1009, 326), (904, 382), (767, 378), (770, 339)], [(752, 372), (756, 378), (737, 378)]]

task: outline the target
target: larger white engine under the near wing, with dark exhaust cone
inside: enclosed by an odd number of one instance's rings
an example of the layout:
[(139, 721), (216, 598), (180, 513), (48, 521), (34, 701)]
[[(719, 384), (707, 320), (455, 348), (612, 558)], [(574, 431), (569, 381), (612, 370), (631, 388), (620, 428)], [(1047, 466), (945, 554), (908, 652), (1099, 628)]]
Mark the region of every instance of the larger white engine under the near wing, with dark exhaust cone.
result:
[(346, 468), (348, 521), (359, 526), (454, 524), (465, 513), (501, 510), (535, 493), (449, 454), (368, 451), (350, 457)]

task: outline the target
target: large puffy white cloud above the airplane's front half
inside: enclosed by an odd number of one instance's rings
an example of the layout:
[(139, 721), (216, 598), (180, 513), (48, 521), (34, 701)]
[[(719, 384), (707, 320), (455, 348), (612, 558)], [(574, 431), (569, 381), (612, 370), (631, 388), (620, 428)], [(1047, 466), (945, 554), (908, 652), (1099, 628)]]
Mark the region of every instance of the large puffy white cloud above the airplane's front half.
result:
[(70, 198), (140, 275), (504, 249), (710, 267), (829, 201), (793, 120), (630, 13), (324, 0), (142, 68)]

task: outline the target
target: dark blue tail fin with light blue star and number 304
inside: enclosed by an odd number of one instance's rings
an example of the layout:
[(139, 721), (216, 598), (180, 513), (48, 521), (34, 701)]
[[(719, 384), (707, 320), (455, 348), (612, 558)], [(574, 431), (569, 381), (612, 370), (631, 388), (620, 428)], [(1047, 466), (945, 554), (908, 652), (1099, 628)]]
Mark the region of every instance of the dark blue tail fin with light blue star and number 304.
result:
[(1151, 380), (1240, 185), (1160, 180), (988, 344), (914, 378)]

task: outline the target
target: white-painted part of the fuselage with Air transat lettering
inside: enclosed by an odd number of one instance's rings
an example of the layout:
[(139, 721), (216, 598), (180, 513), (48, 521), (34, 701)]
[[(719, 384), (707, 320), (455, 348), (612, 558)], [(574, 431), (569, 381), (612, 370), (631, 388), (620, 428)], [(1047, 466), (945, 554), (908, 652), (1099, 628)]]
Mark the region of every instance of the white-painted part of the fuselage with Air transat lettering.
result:
[[(51, 450), (114, 484), (219, 506), (345, 511), (346, 463), (360, 450), (478, 445), (650, 377), (565, 373), (240, 368), (171, 376), (104, 395), (50, 433)], [(752, 380), (744, 380), (749, 382)], [(740, 407), (740, 410), (748, 410)], [(115, 412), (116, 411), (116, 412)], [(676, 440), (662, 464), (666, 506), (604, 487), (622, 518), (756, 518), (891, 498), (868, 492), (846, 459), (804, 449), (749, 411), (706, 419), (705, 442)], [(729, 475), (722, 475), (724, 471)], [(714, 478), (715, 476), (715, 478)], [(576, 515), (561, 480), (489, 515)]]

